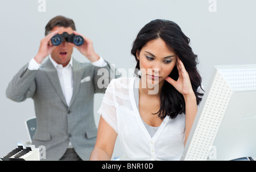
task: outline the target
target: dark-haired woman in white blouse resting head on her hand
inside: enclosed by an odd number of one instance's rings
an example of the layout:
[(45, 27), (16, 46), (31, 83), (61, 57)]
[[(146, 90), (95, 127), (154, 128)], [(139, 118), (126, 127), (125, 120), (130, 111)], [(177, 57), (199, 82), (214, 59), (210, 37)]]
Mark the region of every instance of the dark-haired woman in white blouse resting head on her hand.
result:
[(117, 135), (129, 160), (179, 160), (203, 96), (197, 55), (179, 25), (152, 20), (131, 54), (135, 78), (113, 79), (90, 160), (111, 160)]

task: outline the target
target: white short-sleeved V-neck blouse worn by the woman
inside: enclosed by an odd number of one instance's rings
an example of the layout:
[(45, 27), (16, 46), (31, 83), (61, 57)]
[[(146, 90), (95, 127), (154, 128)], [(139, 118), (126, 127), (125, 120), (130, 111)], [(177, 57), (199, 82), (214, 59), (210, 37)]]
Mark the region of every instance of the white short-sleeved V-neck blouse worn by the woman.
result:
[(134, 99), (138, 78), (113, 79), (98, 113), (117, 132), (129, 160), (180, 160), (184, 148), (185, 114), (164, 118), (150, 136)]

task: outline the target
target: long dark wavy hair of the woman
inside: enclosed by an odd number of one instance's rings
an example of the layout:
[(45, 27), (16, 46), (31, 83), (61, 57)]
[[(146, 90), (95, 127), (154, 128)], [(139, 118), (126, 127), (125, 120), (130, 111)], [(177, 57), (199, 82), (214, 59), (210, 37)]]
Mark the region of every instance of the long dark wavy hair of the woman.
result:
[[(131, 54), (134, 55), (137, 61), (134, 74), (140, 77), (138, 74), (140, 67), (139, 60), (136, 56), (137, 51), (140, 52), (147, 42), (156, 38), (162, 38), (169, 48), (175, 50), (176, 55), (183, 62), (191, 80), (193, 92), (196, 95), (197, 105), (199, 105), (203, 93), (197, 92), (197, 88), (201, 87), (201, 76), (196, 67), (198, 63), (197, 55), (193, 53), (191, 46), (189, 46), (190, 39), (184, 35), (179, 25), (173, 21), (162, 19), (152, 20), (139, 31), (131, 49)], [(169, 76), (174, 80), (179, 78), (176, 66)], [(161, 119), (164, 119), (166, 116), (174, 119), (181, 113), (185, 114), (184, 97), (170, 83), (165, 81), (160, 91), (160, 110), (155, 114), (159, 114)]]

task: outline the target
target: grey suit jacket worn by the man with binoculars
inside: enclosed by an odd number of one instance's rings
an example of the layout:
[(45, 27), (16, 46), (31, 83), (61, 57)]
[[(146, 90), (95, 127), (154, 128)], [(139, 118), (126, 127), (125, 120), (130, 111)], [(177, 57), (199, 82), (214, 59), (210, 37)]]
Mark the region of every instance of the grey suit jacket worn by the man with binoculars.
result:
[[(28, 97), (34, 100), (37, 127), (32, 144), (46, 147), (47, 160), (59, 160), (71, 141), (82, 160), (89, 160), (97, 135), (93, 115), (94, 93), (105, 93), (115, 70), (108, 63), (104, 70), (109, 75), (97, 75), (100, 67), (73, 59), (73, 96), (67, 106), (52, 62), (48, 59), (34, 71), (28, 70), (27, 66), (10, 81), (6, 96), (17, 102)], [(98, 79), (105, 80), (104, 88), (97, 86)]]

